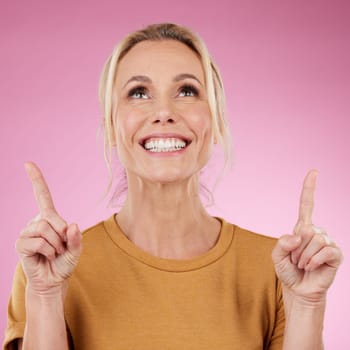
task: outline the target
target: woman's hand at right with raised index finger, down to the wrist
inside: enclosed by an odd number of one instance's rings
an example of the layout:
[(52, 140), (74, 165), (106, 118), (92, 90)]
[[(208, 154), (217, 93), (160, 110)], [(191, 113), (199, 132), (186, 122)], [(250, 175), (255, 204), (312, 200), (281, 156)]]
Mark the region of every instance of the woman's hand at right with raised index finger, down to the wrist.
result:
[(307, 174), (294, 234), (282, 236), (272, 252), (284, 293), (311, 303), (324, 301), (343, 259), (326, 231), (312, 224), (316, 178), (315, 170)]

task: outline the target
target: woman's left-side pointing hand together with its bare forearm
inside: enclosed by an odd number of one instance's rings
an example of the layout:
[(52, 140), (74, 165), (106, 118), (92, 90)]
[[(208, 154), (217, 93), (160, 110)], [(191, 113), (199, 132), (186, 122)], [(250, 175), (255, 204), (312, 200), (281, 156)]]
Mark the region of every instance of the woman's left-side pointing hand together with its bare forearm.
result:
[(40, 169), (34, 163), (25, 167), (39, 214), (16, 241), (27, 279), (27, 322), (18, 348), (68, 349), (63, 302), (67, 278), (81, 254), (81, 234), (76, 224), (68, 225), (57, 213)]

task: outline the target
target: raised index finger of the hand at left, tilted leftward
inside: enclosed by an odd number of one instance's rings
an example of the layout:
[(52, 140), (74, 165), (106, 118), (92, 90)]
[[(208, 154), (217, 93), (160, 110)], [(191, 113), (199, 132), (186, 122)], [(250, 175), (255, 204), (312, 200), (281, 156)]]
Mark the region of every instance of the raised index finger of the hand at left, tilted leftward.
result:
[(24, 167), (30, 181), (32, 182), (34, 196), (38, 203), (40, 213), (43, 213), (48, 209), (56, 211), (49, 187), (47, 186), (39, 167), (33, 162), (26, 162)]

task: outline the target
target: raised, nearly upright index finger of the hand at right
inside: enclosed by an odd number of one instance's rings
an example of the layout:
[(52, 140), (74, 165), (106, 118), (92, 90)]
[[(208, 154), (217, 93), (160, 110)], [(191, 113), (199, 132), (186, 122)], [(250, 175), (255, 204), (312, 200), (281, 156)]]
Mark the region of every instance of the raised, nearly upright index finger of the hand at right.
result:
[(312, 224), (317, 174), (317, 170), (310, 170), (305, 177), (300, 195), (298, 223)]

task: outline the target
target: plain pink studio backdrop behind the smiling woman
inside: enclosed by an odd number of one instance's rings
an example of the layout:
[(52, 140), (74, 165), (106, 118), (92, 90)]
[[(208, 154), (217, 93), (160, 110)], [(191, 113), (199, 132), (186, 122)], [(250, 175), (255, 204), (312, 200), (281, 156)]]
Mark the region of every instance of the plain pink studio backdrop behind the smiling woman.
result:
[[(97, 84), (118, 40), (151, 22), (200, 33), (221, 68), (234, 168), (209, 208), (280, 236), (296, 220), (304, 175), (319, 170), (315, 223), (343, 248), (329, 291), (327, 349), (349, 349), (350, 6), (344, 1), (2, 1), (0, 5), (0, 332), (17, 256), (37, 214), (23, 164), (42, 168), (56, 207), (81, 229), (111, 215)], [(212, 162), (207, 174), (215, 174)]]

